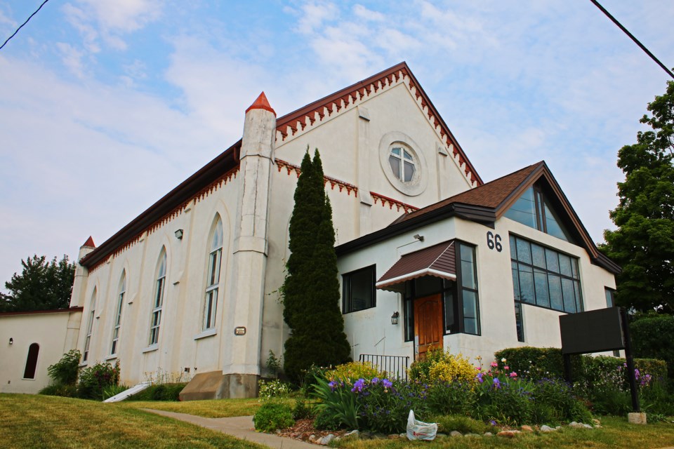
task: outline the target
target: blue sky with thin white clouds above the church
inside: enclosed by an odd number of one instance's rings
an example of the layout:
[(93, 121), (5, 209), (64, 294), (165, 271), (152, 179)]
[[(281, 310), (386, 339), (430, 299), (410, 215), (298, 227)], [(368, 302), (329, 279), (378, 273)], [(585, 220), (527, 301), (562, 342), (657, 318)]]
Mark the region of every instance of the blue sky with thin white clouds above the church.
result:
[[(0, 0), (1, 41), (39, 4)], [(674, 2), (602, 5), (674, 67)], [(484, 180), (546, 160), (602, 241), (668, 76), (589, 0), (50, 0), (0, 51), (0, 283), (112, 236), (260, 91), (282, 115), (402, 60)]]

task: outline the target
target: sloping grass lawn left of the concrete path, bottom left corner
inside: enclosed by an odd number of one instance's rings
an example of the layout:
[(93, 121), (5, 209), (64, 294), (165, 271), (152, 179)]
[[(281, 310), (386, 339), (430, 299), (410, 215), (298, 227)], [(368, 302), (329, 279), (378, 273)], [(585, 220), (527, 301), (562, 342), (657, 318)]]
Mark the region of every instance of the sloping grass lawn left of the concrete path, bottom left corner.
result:
[[(157, 404), (143, 406), (158, 408)], [(263, 447), (134, 407), (53, 396), (0, 394), (0, 448)]]

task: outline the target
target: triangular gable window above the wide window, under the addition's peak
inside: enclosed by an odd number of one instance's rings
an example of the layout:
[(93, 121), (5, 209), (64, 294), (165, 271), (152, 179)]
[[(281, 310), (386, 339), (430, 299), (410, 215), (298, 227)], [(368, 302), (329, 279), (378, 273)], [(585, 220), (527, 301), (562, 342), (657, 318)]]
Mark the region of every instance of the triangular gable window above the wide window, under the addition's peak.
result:
[(569, 232), (564, 228), (559, 215), (550, 205), (546, 195), (537, 186), (525, 190), (513, 206), (505, 212), (505, 217), (522, 223), (538, 231), (565, 241), (571, 241)]

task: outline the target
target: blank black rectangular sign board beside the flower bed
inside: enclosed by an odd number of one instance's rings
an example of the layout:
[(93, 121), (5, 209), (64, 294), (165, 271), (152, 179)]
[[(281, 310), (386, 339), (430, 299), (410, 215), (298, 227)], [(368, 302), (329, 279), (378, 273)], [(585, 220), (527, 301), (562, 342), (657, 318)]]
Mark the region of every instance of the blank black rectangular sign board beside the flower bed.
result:
[(560, 315), (562, 354), (625, 349), (620, 307)]

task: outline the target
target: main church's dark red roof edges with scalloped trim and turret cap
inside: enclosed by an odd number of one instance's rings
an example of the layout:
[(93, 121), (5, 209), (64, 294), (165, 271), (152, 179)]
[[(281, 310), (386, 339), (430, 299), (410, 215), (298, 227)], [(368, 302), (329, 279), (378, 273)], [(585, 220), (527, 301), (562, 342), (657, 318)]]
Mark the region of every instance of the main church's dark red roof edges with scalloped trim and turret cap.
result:
[[(421, 98), (421, 106), (425, 108), (428, 114), (429, 121), (440, 126), (440, 136), (445, 140), (449, 146), (453, 146), (454, 156), (458, 157), (458, 163), (463, 166), (465, 175), (470, 177), (477, 185), (482, 185), (482, 179), (477, 175), (477, 170), (470, 163), (468, 157), (465, 156), (463, 149), (454, 138), (454, 135), (449, 130), (447, 123), (437, 113), (437, 109), (428, 98), (428, 95), (423, 91), (414, 74), (412, 74), (406, 62), (400, 62), (383, 72), (374, 74), (367, 79), (359, 81), (341, 91), (337, 91), (331, 95), (327, 95), (320, 100), (316, 100), (305, 107), (297, 109), (290, 114), (286, 114), (277, 119), (277, 133), (282, 135), (282, 138), (288, 133), (295, 133), (298, 128), (305, 128), (307, 123), (314, 123), (316, 116), (322, 119), (324, 114), (332, 114), (333, 110), (336, 112), (343, 107), (354, 102), (356, 99), (363, 99), (376, 93), (381, 86), (388, 85), (388, 83), (395, 82), (401, 76), (409, 78), (409, 85), (414, 88), (414, 93), (417, 100)], [(261, 93), (253, 105), (249, 109), (266, 109), (274, 112), (271, 105), (267, 101), (264, 93)], [(249, 110), (247, 109), (247, 110)], [(276, 114), (274, 112), (274, 114)], [(224, 152), (216, 156), (215, 159), (206, 164), (203, 168), (194, 173), (182, 182), (178, 187), (171, 190), (164, 195), (159, 201), (147, 208), (138, 217), (131, 220), (128, 225), (119, 230), (110, 239), (95, 248), (95, 250), (82, 257), (79, 261), (84, 267), (93, 269), (98, 264), (105, 262), (110, 255), (116, 251), (126, 248), (126, 246), (138, 241), (140, 236), (148, 229), (153, 229), (159, 223), (164, 222), (167, 218), (179, 213), (183, 210), (187, 203), (192, 199), (199, 197), (199, 195), (217, 184), (225, 176), (230, 173), (235, 173), (239, 168), (239, 151), (241, 150), (241, 140), (234, 143), (231, 147), (225, 149)]]

